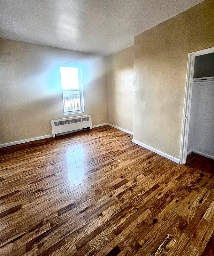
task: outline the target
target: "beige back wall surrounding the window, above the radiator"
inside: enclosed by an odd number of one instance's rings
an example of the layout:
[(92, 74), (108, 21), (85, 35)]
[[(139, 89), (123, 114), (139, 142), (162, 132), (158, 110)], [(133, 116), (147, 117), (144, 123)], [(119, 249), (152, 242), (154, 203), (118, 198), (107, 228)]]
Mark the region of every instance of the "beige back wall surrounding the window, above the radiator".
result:
[[(105, 57), (0, 39), (0, 144), (51, 133), (63, 115), (59, 62), (82, 66), (85, 113), (107, 122)], [(70, 115), (74, 116), (74, 115)]]

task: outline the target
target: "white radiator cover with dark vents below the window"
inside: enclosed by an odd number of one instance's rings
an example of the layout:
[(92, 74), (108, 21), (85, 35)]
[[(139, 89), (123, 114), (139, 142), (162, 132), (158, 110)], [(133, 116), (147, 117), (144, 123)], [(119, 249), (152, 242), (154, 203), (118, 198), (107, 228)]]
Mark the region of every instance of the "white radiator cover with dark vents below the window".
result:
[(88, 127), (92, 129), (91, 115), (66, 117), (66, 118), (51, 120), (53, 138), (57, 133), (70, 132), (70, 131), (88, 128)]

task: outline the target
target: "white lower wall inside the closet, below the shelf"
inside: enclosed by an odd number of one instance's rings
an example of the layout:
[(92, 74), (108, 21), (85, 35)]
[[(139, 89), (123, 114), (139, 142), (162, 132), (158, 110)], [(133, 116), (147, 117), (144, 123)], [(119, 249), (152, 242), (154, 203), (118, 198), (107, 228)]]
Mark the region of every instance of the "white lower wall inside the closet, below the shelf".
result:
[(214, 157), (214, 82), (200, 85), (193, 85), (187, 151)]

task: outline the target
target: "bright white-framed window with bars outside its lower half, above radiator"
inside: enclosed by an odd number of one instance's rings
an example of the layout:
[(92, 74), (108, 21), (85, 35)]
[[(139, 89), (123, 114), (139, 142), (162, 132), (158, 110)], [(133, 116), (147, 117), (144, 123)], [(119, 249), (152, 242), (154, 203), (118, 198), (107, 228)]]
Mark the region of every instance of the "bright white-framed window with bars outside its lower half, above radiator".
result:
[(81, 68), (60, 65), (60, 76), (64, 115), (84, 112)]

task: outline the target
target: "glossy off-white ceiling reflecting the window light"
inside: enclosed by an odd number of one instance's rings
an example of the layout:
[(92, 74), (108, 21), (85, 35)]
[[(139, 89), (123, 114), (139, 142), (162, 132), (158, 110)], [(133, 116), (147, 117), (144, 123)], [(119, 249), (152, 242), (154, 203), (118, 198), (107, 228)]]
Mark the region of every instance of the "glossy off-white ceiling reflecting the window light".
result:
[(201, 0), (1, 0), (0, 37), (109, 55)]

